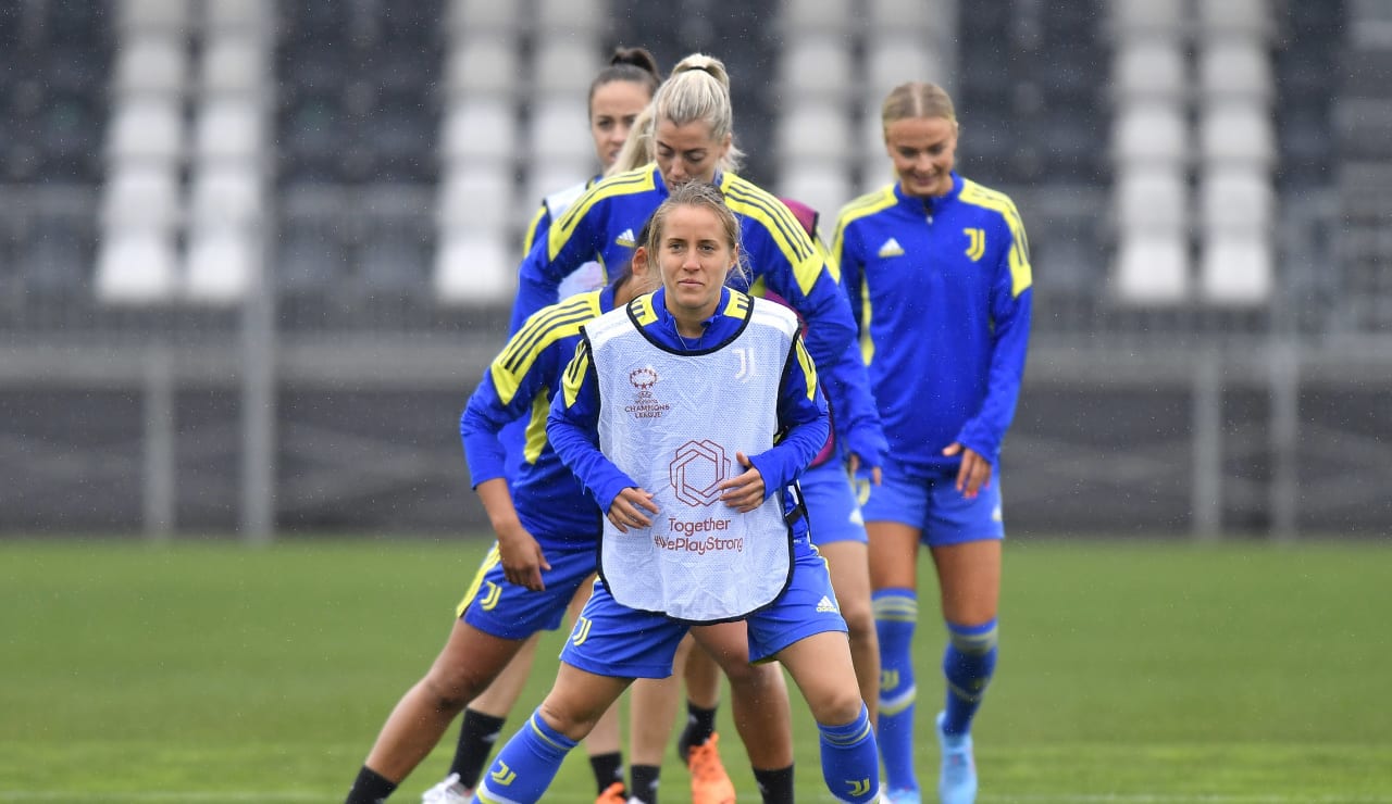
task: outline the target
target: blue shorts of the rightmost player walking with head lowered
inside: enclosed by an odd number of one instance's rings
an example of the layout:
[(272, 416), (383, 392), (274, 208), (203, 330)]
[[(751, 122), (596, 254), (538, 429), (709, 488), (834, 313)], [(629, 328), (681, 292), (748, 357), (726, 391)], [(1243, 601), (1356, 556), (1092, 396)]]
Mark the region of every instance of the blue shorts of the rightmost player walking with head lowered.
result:
[(986, 538), (1005, 538), (1001, 516), (1001, 479), (991, 477), (976, 499), (956, 490), (956, 470), (933, 473), (927, 479), (910, 477), (889, 465), (884, 481), (870, 485), (870, 495), (860, 506), (866, 522), (898, 522), (922, 531), (928, 547), (962, 544)]

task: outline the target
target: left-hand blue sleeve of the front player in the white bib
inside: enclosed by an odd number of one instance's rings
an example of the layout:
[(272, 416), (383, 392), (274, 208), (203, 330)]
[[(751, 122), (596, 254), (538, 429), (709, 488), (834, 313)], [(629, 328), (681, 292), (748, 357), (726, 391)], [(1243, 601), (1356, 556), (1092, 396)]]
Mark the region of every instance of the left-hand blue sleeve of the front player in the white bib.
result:
[(551, 399), (546, 437), (600, 510), (608, 513), (619, 491), (638, 487), (636, 480), (600, 452), (600, 392), (586, 341), (575, 348), (561, 392)]

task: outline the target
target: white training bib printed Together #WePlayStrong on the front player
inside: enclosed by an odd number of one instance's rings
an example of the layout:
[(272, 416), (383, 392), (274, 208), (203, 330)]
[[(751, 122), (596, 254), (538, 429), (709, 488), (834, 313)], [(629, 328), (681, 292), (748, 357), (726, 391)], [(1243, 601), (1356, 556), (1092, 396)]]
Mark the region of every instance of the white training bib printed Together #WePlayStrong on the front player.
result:
[(717, 488), (745, 472), (736, 452), (774, 445), (778, 388), (798, 332), (792, 312), (750, 300), (739, 334), (706, 352), (650, 341), (629, 307), (585, 327), (599, 377), (600, 449), (660, 510), (651, 527), (626, 534), (604, 520), (600, 574), (622, 605), (720, 622), (768, 605), (788, 584), (782, 494), (738, 513)]

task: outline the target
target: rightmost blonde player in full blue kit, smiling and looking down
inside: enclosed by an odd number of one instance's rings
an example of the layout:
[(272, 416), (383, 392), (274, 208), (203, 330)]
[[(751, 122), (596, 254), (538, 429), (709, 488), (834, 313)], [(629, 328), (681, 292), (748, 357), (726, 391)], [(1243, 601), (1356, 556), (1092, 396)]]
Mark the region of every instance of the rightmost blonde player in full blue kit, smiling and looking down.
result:
[(863, 506), (884, 684), (880, 747), (894, 804), (913, 772), (917, 551), (937, 568), (947, 620), (947, 705), (935, 721), (947, 804), (976, 800), (972, 719), (995, 669), (1001, 441), (1015, 415), (1030, 327), (1025, 227), (1005, 195), (954, 172), (952, 99), (895, 88), (881, 108), (898, 181), (842, 211), (832, 238), (889, 441)]

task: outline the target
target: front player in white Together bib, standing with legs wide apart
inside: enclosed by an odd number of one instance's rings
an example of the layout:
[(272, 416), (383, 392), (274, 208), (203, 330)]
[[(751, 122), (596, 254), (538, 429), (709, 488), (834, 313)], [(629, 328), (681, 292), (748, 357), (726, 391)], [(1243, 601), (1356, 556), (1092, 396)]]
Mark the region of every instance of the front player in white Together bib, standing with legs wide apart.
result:
[(778, 659), (803, 691), (828, 789), (856, 803), (878, 794), (845, 622), (793, 485), (825, 442), (825, 402), (796, 317), (724, 287), (739, 235), (717, 188), (683, 184), (640, 249), (663, 288), (585, 327), (547, 433), (607, 512), (603, 583), (555, 686), (475, 801), (537, 801), (633, 677), (671, 673), (693, 623), (738, 620), (748, 659)]

